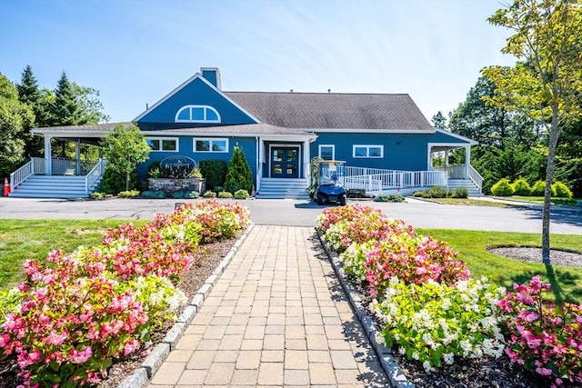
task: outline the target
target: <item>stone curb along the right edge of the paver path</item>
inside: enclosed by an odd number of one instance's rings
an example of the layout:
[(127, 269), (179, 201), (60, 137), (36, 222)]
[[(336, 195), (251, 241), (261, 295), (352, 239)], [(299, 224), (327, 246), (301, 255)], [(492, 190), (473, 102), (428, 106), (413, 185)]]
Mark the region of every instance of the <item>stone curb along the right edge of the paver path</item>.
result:
[(378, 360), (382, 365), (382, 369), (384, 369), (384, 372), (390, 381), (390, 385), (393, 388), (414, 388), (415, 385), (406, 380), (406, 375), (404, 372), (402, 372), (400, 365), (396, 363), (396, 360), (392, 356), (392, 351), (388, 349), (383, 343), (382, 333), (378, 330), (374, 320), (366, 313), (366, 309), (362, 305), (362, 299), (360, 298), (360, 295), (356, 292), (352, 284), (349, 283), (349, 280), (344, 273), (343, 265), (339, 261), (339, 256), (329, 249), (328, 244), (323, 239), (322, 234), (319, 232), (319, 230), (317, 230), (317, 228), (316, 234), (321, 245), (326, 251), (330, 263), (334, 267), (337, 279), (342, 284), (342, 287), (347, 294), (349, 303), (352, 305), (352, 308), (356, 312), (360, 323), (362, 323), (362, 326), (366, 331), (366, 336), (372, 344), (374, 351), (376, 352)]

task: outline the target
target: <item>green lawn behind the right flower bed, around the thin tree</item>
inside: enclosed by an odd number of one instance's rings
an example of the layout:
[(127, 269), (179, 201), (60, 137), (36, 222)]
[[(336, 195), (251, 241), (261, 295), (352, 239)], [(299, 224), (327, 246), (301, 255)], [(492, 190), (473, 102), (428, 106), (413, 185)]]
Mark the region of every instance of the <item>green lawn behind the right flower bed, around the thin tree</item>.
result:
[[(497, 246), (541, 247), (540, 234), (517, 234), (508, 232), (477, 232), (448, 229), (416, 229), (419, 234), (432, 235), (446, 241), (459, 258), (464, 260), (473, 277), (487, 276), (507, 289), (514, 283), (526, 283), (540, 274), (544, 281), (552, 284), (557, 303), (563, 301), (582, 303), (582, 267), (563, 267), (525, 263), (489, 254), (487, 248)], [(582, 238), (572, 234), (552, 234), (552, 249), (582, 254)]]

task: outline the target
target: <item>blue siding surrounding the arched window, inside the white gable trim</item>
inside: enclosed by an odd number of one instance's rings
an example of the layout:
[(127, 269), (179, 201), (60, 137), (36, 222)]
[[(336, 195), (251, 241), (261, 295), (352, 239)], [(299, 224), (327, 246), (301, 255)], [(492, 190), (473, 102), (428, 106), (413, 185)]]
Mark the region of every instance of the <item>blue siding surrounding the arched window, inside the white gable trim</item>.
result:
[(190, 127), (210, 125), (256, 124), (256, 121), (241, 111), (235, 104), (228, 101), (211, 86), (200, 78), (195, 78), (188, 85), (176, 92), (162, 104), (156, 106), (152, 112), (142, 117), (138, 123), (174, 123), (176, 112), (185, 105), (209, 105), (220, 114), (221, 123), (188, 124)]

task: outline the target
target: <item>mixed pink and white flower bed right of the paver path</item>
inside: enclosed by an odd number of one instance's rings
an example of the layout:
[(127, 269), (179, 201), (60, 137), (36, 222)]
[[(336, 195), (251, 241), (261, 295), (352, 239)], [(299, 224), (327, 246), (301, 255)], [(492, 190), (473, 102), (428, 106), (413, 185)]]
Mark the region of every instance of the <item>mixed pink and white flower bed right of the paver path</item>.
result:
[[(471, 280), (447, 244), (362, 205), (328, 208), (316, 225), (345, 273), (376, 298), (371, 310), (397, 346), (427, 373), (456, 359), (501, 357), (547, 384), (582, 383), (582, 311), (543, 299), (539, 276), (515, 293)], [(505, 295), (505, 296), (504, 296)]]

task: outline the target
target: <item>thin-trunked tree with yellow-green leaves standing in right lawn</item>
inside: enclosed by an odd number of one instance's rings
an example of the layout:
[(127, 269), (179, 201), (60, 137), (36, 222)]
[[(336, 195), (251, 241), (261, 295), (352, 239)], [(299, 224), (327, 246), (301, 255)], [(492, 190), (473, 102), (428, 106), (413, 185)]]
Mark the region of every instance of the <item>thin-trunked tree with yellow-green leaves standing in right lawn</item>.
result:
[(513, 68), (484, 70), (497, 85), (489, 102), (517, 108), (547, 126), (542, 260), (549, 264), (550, 188), (557, 142), (567, 125), (582, 114), (582, 1), (514, 0), (488, 21), (513, 32), (501, 51), (524, 61)]

